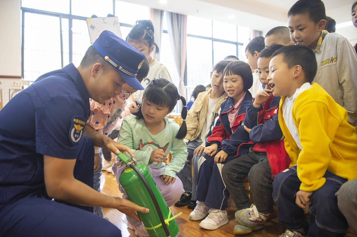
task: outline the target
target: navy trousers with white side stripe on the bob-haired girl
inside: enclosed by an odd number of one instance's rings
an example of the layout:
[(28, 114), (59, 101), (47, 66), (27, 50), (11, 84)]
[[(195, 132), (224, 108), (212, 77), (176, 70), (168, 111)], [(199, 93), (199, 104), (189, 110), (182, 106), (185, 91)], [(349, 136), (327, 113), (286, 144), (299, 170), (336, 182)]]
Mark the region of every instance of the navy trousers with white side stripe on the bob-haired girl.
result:
[[(228, 161), (235, 159), (233, 155), (228, 155), (222, 163), (215, 163), (215, 155), (203, 155), (206, 160), (200, 166), (197, 178), (197, 189), (195, 198), (205, 202), (206, 206), (225, 210), (229, 192), (222, 180), (222, 167)], [(201, 159), (201, 158), (200, 158)]]

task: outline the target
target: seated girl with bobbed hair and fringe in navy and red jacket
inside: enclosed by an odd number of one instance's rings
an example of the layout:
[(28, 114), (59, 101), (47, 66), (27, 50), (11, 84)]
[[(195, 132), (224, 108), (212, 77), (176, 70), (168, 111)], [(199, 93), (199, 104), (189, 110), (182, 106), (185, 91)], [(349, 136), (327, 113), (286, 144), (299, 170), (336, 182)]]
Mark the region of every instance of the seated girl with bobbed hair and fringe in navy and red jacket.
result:
[[(229, 192), (222, 180), (222, 167), (228, 161), (249, 152), (251, 142), (243, 127), (246, 107), (252, 103), (248, 88), (253, 76), (250, 66), (242, 61), (230, 62), (223, 72), (223, 87), (228, 98), (207, 135), (204, 155), (198, 160), (196, 207), (190, 220), (201, 221), (200, 227), (216, 230), (228, 223)], [(239, 159), (239, 158), (238, 158)]]

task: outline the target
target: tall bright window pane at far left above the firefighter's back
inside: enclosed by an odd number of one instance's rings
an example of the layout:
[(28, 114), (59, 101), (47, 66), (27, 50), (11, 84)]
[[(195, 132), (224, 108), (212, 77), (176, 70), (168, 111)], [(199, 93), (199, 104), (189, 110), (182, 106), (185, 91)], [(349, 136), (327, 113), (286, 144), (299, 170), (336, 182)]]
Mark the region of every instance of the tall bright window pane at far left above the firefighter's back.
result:
[(59, 17), (32, 14), (24, 16), (24, 80), (61, 68)]

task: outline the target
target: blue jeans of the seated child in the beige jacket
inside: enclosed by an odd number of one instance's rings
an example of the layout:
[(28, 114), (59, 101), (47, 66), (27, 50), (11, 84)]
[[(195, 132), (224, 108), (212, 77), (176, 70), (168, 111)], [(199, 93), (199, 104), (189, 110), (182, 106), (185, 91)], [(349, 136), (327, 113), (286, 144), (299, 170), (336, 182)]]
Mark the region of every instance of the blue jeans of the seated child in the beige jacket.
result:
[[(193, 151), (195, 151), (195, 149), (201, 144), (202, 141), (197, 141), (197, 140), (189, 141), (187, 143), (187, 152), (188, 152), (187, 160), (185, 162), (185, 165), (183, 166), (183, 169), (176, 174), (176, 176), (179, 177), (180, 180), (182, 181), (183, 189), (185, 190), (185, 192), (191, 192), (192, 190), (192, 170), (190, 167), (191, 159), (193, 159)], [(194, 196), (192, 195), (192, 197)]]

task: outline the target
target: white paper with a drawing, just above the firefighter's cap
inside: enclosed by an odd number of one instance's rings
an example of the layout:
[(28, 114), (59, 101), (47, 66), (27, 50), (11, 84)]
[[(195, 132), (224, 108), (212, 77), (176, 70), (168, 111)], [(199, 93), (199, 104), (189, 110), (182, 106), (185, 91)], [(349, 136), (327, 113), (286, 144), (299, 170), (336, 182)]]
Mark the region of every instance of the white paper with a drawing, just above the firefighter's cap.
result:
[(116, 16), (87, 18), (87, 25), (91, 43), (94, 43), (104, 30), (109, 30), (121, 38), (120, 23)]

